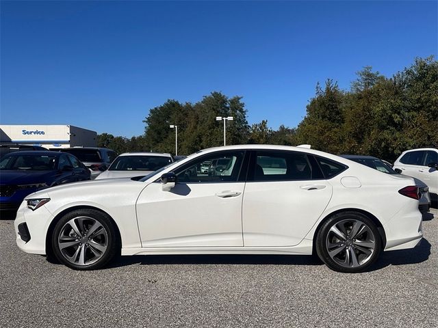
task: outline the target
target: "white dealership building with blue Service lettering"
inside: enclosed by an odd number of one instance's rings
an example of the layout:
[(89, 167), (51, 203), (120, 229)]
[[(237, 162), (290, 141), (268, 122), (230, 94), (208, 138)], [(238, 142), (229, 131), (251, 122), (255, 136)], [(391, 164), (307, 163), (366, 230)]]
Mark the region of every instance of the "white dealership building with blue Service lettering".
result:
[(0, 125), (0, 143), (44, 148), (96, 147), (97, 133), (73, 125)]

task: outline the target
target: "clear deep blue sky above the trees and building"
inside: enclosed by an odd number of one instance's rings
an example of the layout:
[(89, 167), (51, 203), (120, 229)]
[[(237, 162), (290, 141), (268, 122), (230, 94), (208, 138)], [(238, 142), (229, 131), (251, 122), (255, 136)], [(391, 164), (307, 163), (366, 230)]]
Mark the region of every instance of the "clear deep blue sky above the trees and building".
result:
[(348, 89), (437, 56), (437, 1), (1, 1), (1, 124), (144, 133), (212, 91), (294, 127), (318, 81)]

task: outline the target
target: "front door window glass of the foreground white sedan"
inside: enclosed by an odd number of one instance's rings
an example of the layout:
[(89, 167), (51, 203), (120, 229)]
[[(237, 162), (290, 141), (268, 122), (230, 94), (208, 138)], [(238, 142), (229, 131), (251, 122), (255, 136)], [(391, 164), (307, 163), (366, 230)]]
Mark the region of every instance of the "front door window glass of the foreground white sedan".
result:
[(237, 181), (244, 152), (222, 153), (195, 160), (175, 172), (178, 182)]

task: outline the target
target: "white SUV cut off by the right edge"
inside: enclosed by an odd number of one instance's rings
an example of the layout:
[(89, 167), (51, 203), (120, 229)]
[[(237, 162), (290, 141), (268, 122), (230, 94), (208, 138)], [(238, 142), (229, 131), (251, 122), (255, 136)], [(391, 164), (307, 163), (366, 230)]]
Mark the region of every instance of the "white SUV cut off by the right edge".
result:
[(428, 185), (429, 193), (438, 194), (438, 149), (406, 150), (398, 157), (393, 169), (422, 180)]

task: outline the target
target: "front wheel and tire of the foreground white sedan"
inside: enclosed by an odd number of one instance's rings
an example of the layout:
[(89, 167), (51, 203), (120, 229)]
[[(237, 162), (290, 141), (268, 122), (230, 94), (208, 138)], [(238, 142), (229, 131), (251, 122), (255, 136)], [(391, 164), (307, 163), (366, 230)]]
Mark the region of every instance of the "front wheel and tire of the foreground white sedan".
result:
[(57, 221), (51, 245), (55, 258), (75, 270), (104, 267), (120, 254), (121, 249), (112, 219), (99, 210), (88, 208), (73, 210)]

